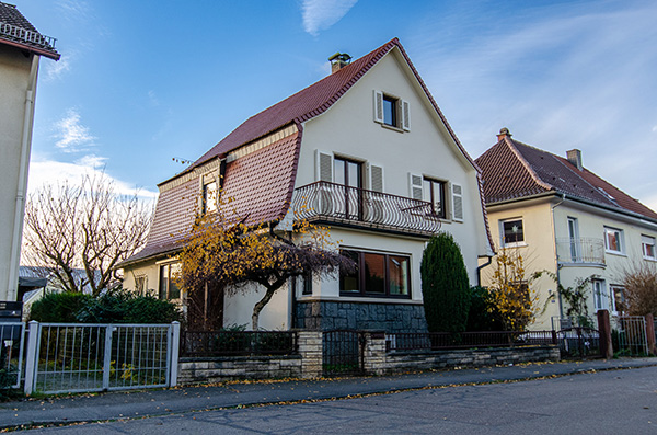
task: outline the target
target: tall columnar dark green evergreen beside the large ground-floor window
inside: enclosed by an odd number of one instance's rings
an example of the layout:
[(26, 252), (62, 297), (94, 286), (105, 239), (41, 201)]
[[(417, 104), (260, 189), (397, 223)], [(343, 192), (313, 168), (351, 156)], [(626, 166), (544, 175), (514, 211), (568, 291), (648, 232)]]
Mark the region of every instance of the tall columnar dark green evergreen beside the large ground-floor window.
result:
[(419, 266), (429, 332), (463, 332), (470, 309), (470, 283), (459, 245), (451, 234), (431, 237)]

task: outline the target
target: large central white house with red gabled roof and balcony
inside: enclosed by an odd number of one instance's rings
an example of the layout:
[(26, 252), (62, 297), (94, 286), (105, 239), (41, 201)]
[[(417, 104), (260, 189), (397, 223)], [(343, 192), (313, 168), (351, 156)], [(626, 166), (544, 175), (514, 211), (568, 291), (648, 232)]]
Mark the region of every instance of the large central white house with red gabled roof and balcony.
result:
[[(247, 222), (281, 233), (297, 217), (327, 226), (359, 266), (289, 283), (263, 310), (263, 328), (426, 329), (419, 263), (438, 230), (453, 234), (475, 284), (477, 257), (493, 254), (479, 172), (404, 48), (395, 38), (350, 64), (348, 55), (330, 60), (328, 77), (159, 184), (147, 245), (120, 265), (126, 288), (181, 297), (172, 279), (178, 240), (218, 186)], [(261, 297), (227, 297), (222, 323), (249, 324)]]

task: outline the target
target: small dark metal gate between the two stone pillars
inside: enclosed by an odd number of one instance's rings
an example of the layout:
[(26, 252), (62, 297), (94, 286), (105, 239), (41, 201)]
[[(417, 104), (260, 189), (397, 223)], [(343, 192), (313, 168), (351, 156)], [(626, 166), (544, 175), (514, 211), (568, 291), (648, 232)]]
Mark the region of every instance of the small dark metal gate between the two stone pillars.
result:
[(324, 331), (322, 340), (324, 376), (361, 375), (366, 336), (362, 331)]

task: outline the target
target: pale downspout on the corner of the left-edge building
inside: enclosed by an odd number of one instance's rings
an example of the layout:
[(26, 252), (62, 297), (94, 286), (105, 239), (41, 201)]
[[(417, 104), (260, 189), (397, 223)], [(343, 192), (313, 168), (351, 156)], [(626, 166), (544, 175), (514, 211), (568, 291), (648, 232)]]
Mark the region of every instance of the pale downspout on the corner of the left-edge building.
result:
[(25, 216), (25, 192), (30, 170), (30, 153), (32, 148), (32, 125), (34, 124), (34, 99), (36, 94), (36, 78), (38, 76), (39, 56), (32, 55), (30, 81), (25, 92), (25, 113), (23, 115), (23, 135), (21, 139), (21, 160), (19, 162), (19, 184), (14, 208), (13, 234), (11, 238), (11, 256), (9, 265), (8, 300), (16, 300), (19, 287), (19, 266), (21, 264), (21, 241), (23, 238), (23, 218)]

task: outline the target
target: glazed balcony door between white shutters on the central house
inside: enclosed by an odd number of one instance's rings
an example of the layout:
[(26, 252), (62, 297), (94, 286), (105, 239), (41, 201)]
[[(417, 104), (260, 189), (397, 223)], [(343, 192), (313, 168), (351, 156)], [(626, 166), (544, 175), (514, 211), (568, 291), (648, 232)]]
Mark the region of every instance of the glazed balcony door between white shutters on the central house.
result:
[(345, 219), (361, 220), (362, 217), (362, 164), (347, 159), (333, 159), (333, 181), (338, 192), (337, 208)]

